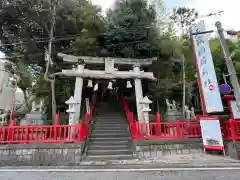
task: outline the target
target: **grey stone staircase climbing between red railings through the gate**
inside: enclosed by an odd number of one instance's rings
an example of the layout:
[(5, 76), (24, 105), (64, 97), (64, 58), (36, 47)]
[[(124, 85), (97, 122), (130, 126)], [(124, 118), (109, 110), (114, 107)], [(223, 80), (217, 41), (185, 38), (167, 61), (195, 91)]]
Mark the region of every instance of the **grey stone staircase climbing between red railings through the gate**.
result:
[(97, 109), (92, 134), (87, 148), (87, 159), (131, 159), (132, 139), (128, 124), (121, 110), (109, 102), (102, 102)]

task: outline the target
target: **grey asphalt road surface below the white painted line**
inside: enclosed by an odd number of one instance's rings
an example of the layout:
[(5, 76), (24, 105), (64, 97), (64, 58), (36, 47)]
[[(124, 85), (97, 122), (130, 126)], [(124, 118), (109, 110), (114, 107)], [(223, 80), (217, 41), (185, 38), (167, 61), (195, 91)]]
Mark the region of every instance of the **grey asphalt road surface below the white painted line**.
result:
[(145, 172), (1, 172), (5, 180), (237, 180), (239, 170)]

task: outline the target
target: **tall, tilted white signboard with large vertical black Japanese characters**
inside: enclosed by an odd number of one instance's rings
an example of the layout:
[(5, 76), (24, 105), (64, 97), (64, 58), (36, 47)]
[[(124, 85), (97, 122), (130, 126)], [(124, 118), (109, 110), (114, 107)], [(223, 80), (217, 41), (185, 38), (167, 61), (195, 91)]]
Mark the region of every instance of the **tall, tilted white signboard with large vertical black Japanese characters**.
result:
[[(205, 32), (204, 21), (200, 21), (192, 28), (192, 33)], [(208, 34), (193, 35), (193, 44), (196, 54), (200, 81), (203, 90), (206, 111), (222, 112), (223, 104), (220, 96), (212, 54), (209, 46)], [(199, 87), (200, 88), (200, 87)]]

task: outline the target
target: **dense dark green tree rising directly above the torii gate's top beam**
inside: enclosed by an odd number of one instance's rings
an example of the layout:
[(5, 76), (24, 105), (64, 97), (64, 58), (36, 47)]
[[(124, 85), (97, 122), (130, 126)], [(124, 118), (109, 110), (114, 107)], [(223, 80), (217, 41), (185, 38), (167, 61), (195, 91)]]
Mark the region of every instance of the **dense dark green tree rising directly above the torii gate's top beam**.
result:
[(121, 0), (107, 13), (100, 45), (109, 56), (144, 58), (156, 55), (157, 39), (154, 7), (146, 0)]

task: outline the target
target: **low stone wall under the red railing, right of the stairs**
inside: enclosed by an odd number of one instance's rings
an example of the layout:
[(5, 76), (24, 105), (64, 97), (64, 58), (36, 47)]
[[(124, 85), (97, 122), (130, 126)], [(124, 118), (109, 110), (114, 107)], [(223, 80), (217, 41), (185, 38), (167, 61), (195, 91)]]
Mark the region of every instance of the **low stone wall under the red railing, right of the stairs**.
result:
[(135, 141), (137, 158), (159, 157), (175, 154), (201, 153), (201, 139), (162, 139), (157, 141)]

